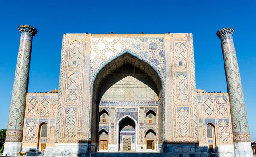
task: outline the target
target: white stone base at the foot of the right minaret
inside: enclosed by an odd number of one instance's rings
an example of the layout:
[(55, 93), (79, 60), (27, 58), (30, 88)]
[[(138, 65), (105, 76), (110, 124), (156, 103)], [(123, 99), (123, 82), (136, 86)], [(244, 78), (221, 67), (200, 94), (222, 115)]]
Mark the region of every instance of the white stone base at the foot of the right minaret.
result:
[(235, 157), (253, 157), (253, 150), (250, 142), (234, 142)]

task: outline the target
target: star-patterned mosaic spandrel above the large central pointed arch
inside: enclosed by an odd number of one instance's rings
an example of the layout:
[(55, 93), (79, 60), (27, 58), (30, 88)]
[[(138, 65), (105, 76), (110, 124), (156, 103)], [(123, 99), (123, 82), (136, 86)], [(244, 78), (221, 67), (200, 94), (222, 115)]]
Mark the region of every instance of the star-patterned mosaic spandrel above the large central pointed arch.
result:
[(92, 38), (91, 74), (100, 64), (125, 49), (140, 53), (165, 73), (163, 38)]

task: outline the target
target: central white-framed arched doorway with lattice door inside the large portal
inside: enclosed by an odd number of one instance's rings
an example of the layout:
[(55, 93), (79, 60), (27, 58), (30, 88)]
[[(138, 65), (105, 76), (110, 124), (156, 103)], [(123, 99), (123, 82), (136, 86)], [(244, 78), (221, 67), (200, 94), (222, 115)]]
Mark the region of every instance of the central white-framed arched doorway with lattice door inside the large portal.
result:
[(119, 151), (136, 151), (137, 123), (130, 116), (118, 121), (118, 148)]

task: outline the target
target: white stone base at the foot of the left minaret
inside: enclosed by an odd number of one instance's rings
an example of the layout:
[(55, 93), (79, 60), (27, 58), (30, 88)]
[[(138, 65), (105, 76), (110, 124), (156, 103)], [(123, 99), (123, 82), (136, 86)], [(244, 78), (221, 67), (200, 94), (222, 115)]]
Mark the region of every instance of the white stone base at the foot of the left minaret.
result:
[(22, 142), (5, 142), (3, 156), (18, 156), (21, 152)]

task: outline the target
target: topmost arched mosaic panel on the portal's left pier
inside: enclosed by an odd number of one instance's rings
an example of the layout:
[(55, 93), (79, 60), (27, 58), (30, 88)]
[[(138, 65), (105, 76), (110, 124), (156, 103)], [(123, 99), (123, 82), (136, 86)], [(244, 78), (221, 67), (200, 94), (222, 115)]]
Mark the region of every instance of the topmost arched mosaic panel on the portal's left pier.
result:
[(70, 44), (70, 54), (69, 54), (69, 67), (79, 67), (80, 66), (80, 57), (81, 57), (81, 43), (77, 40), (73, 41)]

